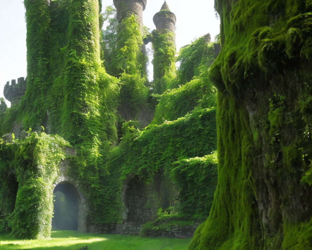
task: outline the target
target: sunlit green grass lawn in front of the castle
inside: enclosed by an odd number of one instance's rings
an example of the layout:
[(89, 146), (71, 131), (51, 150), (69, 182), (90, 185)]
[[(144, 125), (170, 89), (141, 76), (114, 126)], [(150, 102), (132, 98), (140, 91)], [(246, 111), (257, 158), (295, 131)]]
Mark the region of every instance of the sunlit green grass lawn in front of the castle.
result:
[(55, 231), (51, 238), (41, 240), (16, 240), (0, 235), (1, 250), (186, 250), (190, 239), (141, 238), (122, 234), (85, 234), (76, 231)]

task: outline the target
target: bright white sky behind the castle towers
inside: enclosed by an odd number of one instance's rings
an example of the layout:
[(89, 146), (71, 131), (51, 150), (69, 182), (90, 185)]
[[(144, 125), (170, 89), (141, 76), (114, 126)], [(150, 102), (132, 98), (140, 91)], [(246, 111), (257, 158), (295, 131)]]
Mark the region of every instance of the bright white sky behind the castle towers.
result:
[[(113, 0), (102, 0), (105, 6)], [(166, 0), (176, 15), (177, 50), (195, 38), (210, 33), (212, 40), (219, 33), (220, 21), (216, 18), (214, 0)], [(153, 16), (163, 5), (163, 0), (147, 0), (143, 12), (144, 25), (155, 29)], [(26, 77), (26, 24), (22, 0), (0, 0), (0, 97), (7, 81)], [(151, 70), (150, 70), (151, 71)], [(9, 106), (9, 102), (6, 101)]]

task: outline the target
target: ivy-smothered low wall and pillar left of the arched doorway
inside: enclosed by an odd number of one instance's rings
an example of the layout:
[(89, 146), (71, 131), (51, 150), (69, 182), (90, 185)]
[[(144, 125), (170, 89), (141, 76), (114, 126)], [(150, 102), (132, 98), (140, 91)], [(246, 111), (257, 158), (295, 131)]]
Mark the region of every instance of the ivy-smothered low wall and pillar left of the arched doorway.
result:
[[(68, 146), (69, 143), (59, 136), (36, 132), (25, 140), (13, 140), (2, 146), (1, 162), (4, 164), (1, 165), (1, 172), (11, 169), (18, 183), (17, 194), (12, 193), (12, 190), (8, 192), (8, 189), (12, 189), (12, 183), (9, 183), (7, 176), (2, 175), (3, 200), (0, 206), (2, 215), (7, 213), (8, 216), (0, 221), (2, 231), (11, 228), (12, 233), (19, 238), (50, 236), (52, 184), (57, 177), (60, 161), (66, 157), (64, 148)], [(16, 203), (9, 204), (14, 199)]]

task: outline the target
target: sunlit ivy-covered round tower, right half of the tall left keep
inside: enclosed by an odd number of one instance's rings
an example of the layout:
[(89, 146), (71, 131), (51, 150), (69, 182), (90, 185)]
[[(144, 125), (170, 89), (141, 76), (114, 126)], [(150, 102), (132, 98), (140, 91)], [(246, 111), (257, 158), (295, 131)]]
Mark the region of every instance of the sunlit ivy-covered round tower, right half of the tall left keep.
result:
[[(67, 54), (64, 73), (66, 76), (64, 88), (67, 94), (63, 106), (69, 115), (63, 116), (61, 124), (62, 129), (71, 135), (65, 137), (67, 140), (81, 143), (82, 138), (77, 134), (93, 138), (92, 130), (95, 131), (96, 126), (99, 126), (97, 123), (99, 110), (97, 70), (100, 67), (99, 1), (75, 0), (69, 7), (69, 14), (70, 53)], [(86, 115), (87, 113), (89, 114)]]

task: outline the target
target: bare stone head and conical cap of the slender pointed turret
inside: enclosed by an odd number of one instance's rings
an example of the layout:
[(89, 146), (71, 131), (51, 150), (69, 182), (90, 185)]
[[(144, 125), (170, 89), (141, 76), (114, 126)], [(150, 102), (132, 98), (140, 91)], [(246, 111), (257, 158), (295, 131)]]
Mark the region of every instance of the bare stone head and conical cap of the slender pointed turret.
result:
[(156, 26), (157, 31), (163, 32), (169, 30), (169, 32), (175, 32), (176, 16), (170, 11), (167, 2), (163, 3), (160, 11), (157, 12), (153, 17), (153, 22)]

